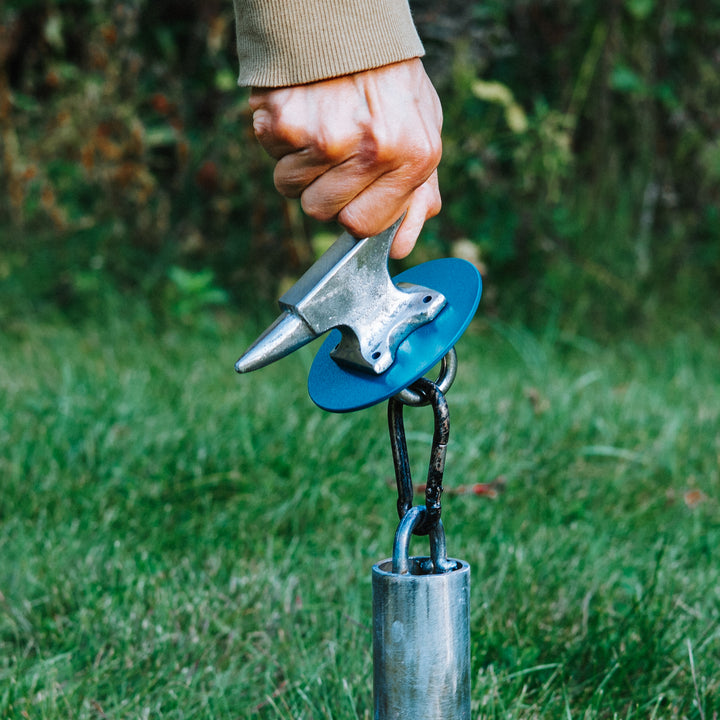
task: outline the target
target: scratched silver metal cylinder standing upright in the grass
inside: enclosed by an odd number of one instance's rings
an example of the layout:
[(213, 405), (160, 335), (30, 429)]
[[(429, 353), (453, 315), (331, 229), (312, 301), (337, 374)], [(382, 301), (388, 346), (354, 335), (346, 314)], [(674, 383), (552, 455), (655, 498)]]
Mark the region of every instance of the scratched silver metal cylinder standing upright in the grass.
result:
[(375, 720), (470, 720), (470, 566), (413, 574), (373, 566)]

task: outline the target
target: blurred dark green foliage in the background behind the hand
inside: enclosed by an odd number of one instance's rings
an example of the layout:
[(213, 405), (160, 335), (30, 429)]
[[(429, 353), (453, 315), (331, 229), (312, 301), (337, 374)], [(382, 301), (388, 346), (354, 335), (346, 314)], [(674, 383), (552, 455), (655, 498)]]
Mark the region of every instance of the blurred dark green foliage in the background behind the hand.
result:
[[(717, 0), (412, 5), (445, 109), (412, 262), (469, 257), (485, 312), (530, 324), (717, 311)], [(229, 0), (3, 6), (0, 319), (108, 284), (183, 314), (180, 267), (247, 307), (312, 261), (327, 229), (272, 187), (233, 22)]]

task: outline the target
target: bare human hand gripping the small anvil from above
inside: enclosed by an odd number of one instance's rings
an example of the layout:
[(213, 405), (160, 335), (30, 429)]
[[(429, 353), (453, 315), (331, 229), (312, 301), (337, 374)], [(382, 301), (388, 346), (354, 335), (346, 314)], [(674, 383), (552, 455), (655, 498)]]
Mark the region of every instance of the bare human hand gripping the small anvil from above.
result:
[(355, 237), (406, 213), (391, 257), (405, 257), (440, 212), (442, 109), (417, 58), (308, 85), (253, 88), (253, 127), (277, 160), (275, 186)]

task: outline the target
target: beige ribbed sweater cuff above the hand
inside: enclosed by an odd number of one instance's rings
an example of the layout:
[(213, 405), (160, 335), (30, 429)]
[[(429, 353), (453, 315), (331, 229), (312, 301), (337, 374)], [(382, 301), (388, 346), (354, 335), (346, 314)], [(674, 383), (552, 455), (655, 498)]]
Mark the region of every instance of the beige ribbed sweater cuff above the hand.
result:
[(408, 0), (234, 0), (238, 84), (301, 85), (423, 55)]

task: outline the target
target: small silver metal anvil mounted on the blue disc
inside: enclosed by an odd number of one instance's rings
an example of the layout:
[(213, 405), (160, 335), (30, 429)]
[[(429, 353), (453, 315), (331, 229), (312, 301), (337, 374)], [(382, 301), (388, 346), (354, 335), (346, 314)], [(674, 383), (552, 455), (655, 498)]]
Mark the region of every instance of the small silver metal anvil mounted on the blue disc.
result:
[(375, 375), (388, 370), (403, 340), (446, 304), (441, 292), (390, 278), (388, 254), (401, 221), (362, 240), (343, 233), (280, 298), (283, 313), (235, 369), (257, 370), (337, 328), (333, 360)]

